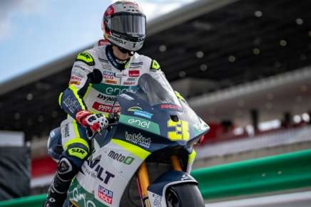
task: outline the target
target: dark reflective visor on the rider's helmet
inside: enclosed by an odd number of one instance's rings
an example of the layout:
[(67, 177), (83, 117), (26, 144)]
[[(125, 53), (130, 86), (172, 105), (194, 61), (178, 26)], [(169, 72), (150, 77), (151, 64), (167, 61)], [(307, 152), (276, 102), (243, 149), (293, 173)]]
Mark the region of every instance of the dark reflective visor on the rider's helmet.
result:
[(146, 36), (146, 16), (142, 14), (116, 14), (111, 16), (111, 30), (133, 38)]

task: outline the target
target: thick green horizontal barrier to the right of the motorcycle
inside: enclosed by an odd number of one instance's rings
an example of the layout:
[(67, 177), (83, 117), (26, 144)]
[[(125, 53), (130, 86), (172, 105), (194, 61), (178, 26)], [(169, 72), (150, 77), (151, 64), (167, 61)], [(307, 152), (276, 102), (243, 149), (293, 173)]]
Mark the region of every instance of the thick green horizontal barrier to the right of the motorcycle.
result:
[(205, 200), (311, 187), (311, 150), (198, 169)]

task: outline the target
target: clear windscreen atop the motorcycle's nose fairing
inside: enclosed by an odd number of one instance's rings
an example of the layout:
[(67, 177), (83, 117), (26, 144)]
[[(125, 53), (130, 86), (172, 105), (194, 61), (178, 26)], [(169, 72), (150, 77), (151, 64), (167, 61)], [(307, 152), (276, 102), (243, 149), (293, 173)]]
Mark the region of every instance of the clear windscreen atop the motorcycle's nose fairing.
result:
[(138, 90), (132, 91), (150, 105), (171, 104), (181, 107), (173, 88), (162, 72), (145, 73), (138, 80)]

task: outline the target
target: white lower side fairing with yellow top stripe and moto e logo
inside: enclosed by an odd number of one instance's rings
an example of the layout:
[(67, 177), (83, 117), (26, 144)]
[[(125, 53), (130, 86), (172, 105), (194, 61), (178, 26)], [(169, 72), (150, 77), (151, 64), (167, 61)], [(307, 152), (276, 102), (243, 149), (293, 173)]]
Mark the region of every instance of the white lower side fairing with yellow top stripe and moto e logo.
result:
[[(96, 206), (119, 206), (128, 182), (149, 154), (134, 144), (111, 139), (83, 163), (68, 191), (69, 200), (78, 206), (91, 199)], [(85, 199), (76, 195), (84, 195)]]

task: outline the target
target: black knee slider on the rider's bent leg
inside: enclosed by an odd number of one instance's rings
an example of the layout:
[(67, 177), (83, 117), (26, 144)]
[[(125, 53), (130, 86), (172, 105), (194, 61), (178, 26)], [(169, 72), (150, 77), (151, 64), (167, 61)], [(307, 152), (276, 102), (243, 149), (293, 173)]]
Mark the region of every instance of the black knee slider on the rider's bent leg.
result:
[(63, 181), (69, 181), (73, 179), (78, 173), (78, 168), (71, 163), (66, 157), (62, 157), (57, 165), (57, 174)]

